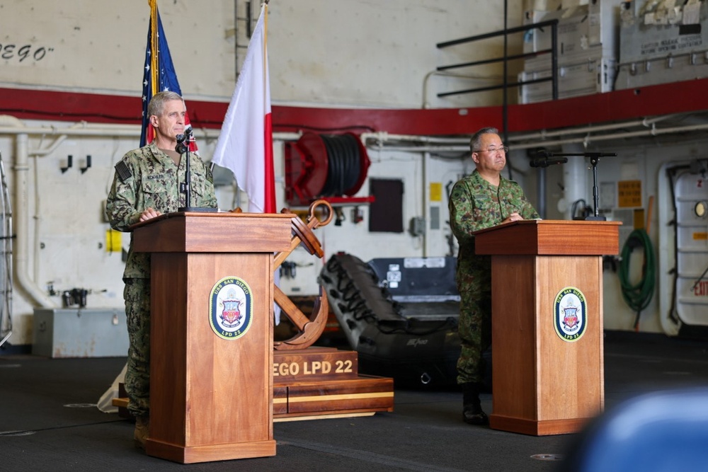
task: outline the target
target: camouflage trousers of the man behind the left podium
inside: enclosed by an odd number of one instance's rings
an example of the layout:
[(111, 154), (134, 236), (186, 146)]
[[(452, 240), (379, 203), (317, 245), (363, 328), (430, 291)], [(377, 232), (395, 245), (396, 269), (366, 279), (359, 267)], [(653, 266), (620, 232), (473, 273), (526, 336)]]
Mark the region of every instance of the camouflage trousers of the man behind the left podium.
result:
[(135, 416), (150, 410), (150, 280), (124, 279), (125, 316), (128, 328), (125, 391), (127, 409)]

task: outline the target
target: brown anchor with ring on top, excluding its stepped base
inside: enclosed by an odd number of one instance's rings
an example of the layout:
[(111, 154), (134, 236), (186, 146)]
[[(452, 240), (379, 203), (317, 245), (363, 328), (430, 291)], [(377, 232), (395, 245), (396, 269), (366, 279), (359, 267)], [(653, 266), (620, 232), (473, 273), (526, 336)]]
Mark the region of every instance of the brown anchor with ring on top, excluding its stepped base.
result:
[[(316, 216), (317, 207), (322, 207), (326, 217), (319, 219)], [(287, 208), (282, 209), (280, 213), (292, 214), (292, 239), (290, 240), (290, 249), (281, 251), (275, 254), (273, 258), (273, 270), (277, 270), (295, 248), (302, 244), (310, 254), (317, 255), (322, 258), (324, 251), (319, 243), (319, 240), (312, 232), (317, 226), (326, 226), (332, 220), (332, 206), (326, 200), (315, 200), (309, 206), (309, 215), (307, 224), (302, 221), (296, 214), (290, 212)], [(285, 313), (288, 319), (292, 321), (299, 333), (285, 341), (275, 341), (273, 349), (289, 350), (289, 349), (305, 349), (311, 346), (322, 334), (327, 323), (329, 314), (329, 304), (327, 303), (327, 294), (324, 293), (323, 287), (319, 287), (319, 298), (315, 300), (312, 309), (312, 315), (308, 318), (297, 306), (292, 303), (290, 298), (273, 285), (273, 299), (280, 306), (282, 312)]]

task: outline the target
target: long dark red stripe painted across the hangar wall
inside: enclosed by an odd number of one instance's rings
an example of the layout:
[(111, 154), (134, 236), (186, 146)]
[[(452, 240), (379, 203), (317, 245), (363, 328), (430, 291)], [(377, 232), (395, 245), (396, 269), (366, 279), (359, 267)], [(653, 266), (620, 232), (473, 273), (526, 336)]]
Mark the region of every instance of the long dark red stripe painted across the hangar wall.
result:
[[(530, 132), (708, 110), (708, 79), (597, 93), (529, 105), (509, 105), (508, 132)], [(139, 125), (139, 97), (0, 88), (0, 113), (21, 119)], [(219, 129), (228, 103), (187, 100), (195, 129)], [(314, 131), (392, 134), (472, 134), (502, 128), (501, 106), (382, 110), (272, 106), (274, 132)]]

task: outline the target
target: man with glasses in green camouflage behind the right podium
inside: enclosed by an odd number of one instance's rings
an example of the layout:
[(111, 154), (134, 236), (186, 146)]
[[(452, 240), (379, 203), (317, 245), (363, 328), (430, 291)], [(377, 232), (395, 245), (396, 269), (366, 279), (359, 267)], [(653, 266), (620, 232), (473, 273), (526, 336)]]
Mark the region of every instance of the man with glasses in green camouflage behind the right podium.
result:
[[(491, 257), (474, 254), (474, 231), (498, 224), (537, 219), (518, 183), (503, 178), (506, 146), (496, 128), (482, 128), (469, 142), (476, 169), (450, 192), (450, 226), (457, 238), (457, 289), (460, 294), (457, 383), (462, 387), (462, 418), (486, 425), (479, 391), (484, 378), (482, 353), (491, 345)], [(499, 367), (503, 368), (503, 367)]]

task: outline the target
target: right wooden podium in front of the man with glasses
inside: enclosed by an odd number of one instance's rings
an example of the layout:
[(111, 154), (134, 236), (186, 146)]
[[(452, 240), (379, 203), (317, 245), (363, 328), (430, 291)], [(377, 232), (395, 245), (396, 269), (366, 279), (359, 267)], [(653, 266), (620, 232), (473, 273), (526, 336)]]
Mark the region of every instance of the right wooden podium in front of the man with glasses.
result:
[(495, 430), (577, 432), (603, 410), (603, 255), (617, 221), (526, 220), (475, 233), (491, 255)]

